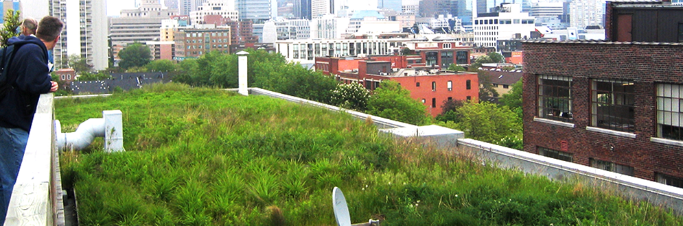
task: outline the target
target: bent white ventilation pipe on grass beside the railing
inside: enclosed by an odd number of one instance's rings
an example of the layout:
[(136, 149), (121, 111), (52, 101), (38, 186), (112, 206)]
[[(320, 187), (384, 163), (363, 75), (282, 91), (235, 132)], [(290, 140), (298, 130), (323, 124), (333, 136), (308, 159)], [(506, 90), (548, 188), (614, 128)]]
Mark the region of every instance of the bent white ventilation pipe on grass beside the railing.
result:
[(65, 134), (62, 134), (62, 125), (55, 120), (58, 149), (82, 150), (88, 147), (95, 137), (104, 137), (105, 151), (125, 151), (121, 111), (103, 111), (102, 116), (103, 118), (90, 118), (80, 123), (75, 132)]

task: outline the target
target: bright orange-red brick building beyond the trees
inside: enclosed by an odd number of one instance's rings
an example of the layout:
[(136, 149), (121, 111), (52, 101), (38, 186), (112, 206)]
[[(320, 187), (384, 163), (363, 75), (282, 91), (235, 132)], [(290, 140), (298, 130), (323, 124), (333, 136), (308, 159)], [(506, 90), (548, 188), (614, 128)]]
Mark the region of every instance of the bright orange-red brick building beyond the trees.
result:
[(441, 105), (449, 99), (476, 101), (479, 93), (477, 73), (443, 71), (432, 67), (404, 67), (406, 56), (371, 58), (316, 58), (316, 71), (343, 81), (358, 82), (375, 90), (384, 79), (397, 81), (421, 101), (431, 116), (441, 114)]

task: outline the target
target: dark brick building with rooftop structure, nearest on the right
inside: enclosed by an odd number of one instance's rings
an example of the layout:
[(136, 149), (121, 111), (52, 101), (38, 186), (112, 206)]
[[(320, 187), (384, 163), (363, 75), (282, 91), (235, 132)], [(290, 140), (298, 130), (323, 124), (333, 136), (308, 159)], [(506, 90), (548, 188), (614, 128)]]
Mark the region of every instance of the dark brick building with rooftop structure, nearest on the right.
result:
[(655, 29), (682, 12), (608, 2), (607, 37), (633, 42), (524, 42), (524, 151), (683, 187), (682, 39)]

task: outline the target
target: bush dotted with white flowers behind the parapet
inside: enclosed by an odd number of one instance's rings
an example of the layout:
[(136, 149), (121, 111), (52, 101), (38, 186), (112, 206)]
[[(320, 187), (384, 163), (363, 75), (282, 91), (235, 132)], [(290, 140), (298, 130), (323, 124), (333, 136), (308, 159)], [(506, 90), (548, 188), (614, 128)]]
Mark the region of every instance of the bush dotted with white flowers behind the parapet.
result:
[(370, 92), (361, 84), (338, 84), (332, 91), (331, 103), (351, 110), (364, 112), (370, 99)]

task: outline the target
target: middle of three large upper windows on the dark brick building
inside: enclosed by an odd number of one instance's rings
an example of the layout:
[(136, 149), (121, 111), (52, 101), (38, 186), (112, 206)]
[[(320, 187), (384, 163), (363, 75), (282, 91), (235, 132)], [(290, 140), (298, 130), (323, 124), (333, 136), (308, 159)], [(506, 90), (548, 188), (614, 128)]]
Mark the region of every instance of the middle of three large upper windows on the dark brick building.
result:
[(634, 131), (634, 83), (594, 79), (591, 86), (591, 125)]

